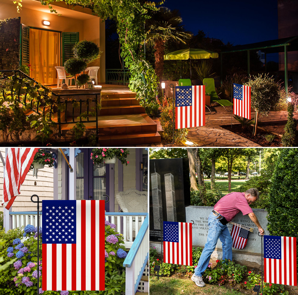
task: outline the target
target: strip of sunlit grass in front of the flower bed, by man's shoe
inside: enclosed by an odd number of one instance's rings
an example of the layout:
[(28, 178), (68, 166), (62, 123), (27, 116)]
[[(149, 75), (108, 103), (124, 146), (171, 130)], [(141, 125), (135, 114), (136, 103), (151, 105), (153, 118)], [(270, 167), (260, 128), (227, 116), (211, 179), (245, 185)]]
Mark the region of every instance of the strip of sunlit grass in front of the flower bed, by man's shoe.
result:
[(191, 279), (182, 278), (167, 278), (162, 277), (157, 280), (157, 277), (152, 276), (149, 280), (150, 295), (240, 295), (242, 293), (228, 290), (225, 287), (217, 285), (206, 285), (198, 287)]

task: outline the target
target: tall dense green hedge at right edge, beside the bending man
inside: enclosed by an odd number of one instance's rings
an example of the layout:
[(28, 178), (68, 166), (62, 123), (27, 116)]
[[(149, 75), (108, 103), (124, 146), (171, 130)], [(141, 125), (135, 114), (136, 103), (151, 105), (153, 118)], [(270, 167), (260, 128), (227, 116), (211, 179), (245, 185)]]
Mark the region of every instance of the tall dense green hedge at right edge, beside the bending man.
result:
[[(298, 235), (298, 149), (282, 149), (272, 175), (267, 226), (270, 235)], [(298, 253), (297, 253), (298, 257)]]

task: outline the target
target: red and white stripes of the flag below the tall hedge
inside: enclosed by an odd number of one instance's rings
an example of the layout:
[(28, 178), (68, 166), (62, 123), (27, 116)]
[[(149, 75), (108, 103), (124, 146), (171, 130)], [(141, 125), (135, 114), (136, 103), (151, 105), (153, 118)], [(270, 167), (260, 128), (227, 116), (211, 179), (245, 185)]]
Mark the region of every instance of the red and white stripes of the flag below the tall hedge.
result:
[(264, 282), (297, 286), (296, 238), (281, 237), (281, 259), (264, 257)]

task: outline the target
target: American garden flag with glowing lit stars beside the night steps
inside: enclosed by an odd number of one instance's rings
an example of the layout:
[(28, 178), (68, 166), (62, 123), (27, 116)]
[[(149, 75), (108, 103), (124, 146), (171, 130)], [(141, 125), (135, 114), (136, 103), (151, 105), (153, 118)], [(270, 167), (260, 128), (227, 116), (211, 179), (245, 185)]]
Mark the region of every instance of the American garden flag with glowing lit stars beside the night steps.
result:
[(176, 129), (205, 126), (205, 86), (176, 87)]

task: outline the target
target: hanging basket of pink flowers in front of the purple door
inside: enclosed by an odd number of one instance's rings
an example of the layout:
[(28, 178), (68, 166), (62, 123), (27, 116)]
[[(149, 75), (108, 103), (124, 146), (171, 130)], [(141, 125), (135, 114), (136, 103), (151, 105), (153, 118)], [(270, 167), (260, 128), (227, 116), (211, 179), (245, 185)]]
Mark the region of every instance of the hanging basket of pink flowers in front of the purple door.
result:
[(126, 160), (129, 151), (127, 149), (111, 149), (111, 148), (101, 148), (93, 149), (91, 153), (91, 159), (93, 163), (105, 163), (105, 164), (115, 164), (116, 160), (119, 159), (122, 164), (129, 164)]

